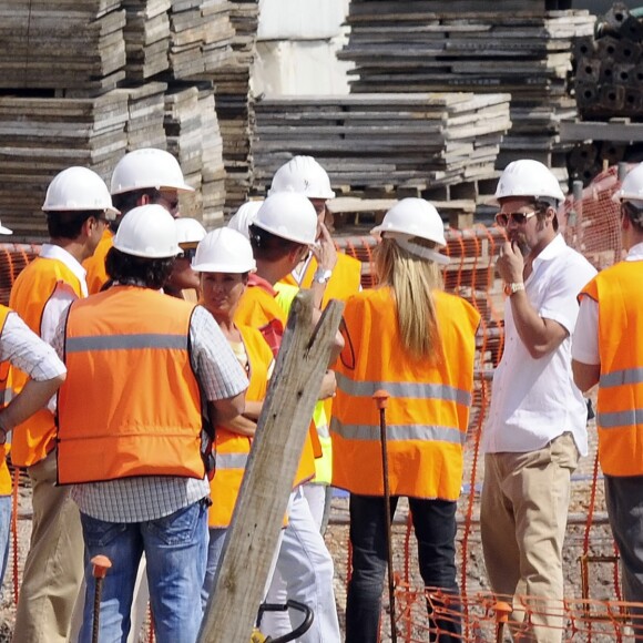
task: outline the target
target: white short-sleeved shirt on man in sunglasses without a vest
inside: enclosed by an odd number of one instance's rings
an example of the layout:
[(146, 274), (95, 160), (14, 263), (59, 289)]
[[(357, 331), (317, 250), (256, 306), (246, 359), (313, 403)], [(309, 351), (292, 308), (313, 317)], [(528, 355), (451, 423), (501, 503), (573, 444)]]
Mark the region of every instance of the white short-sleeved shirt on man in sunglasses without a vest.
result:
[(579, 313), (576, 296), (595, 274), (560, 234), (533, 261), (524, 283), (529, 302), (541, 318), (558, 322), (570, 335), (540, 359), (531, 357), (520, 339), (507, 298), (504, 353), (493, 375), (491, 408), (482, 431), (484, 452), (535, 451), (570, 431), (580, 453), (586, 455), (586, 405), (573, 382), (571, 336)]

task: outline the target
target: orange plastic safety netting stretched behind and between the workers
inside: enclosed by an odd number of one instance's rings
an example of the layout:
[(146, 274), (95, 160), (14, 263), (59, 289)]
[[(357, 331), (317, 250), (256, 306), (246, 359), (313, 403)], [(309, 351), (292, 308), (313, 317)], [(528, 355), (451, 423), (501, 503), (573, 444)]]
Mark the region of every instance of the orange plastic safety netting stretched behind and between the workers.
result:
[[(569, 245), (583, 253), (596, 267), (602, 268), (619, 261), (622, 256), (619, 234), (619, 207), (611, 196), (619, 182), (616, 170), (611, 169), (599, 175), (594, 183), (582, 193), (582, 198), (569, 198), (561, 216), (561, 227)], [(460, 563), (460, 595), (457, 601), (461, 605), (463, 641), (502, 641), (508, 633), (507, 611), (499, 610), (498, 599), (494, 599), (472, 583), (468, 573), (472, 557), (472, 543), (479, 539), (477, 519), (474, 516), (479, 478), (479, 439), (491, 395), (491, 377), (494, 366), (502, 353), (503, 295), (501, 282), (496, 275), (494, 263), (499, 247), (504, 238), (503, 231), (497, 227), (474, 226), (465, 231), (448, 231), (447, 254), (451, 262), (445, 267), (445, 286), (448, 292), (456, 293), (468, 299), (481, 315), (478, 331), (478, 363), (476, 368), (476, 388), (471, 409), (469, 439), (467, 449), (471, 451), (468, 470), (465, 476), (465, 488), (460, 500), (458, 533)], [(363, 287), (375, 284), (372, 249), (375, 239), (370, 236), (338, 237), (337, 245), (347, 254), (363, 263)], [(9, 293), (20, 271), (39, 252), (37, 245), (0, 244), (0, 302), (7, 304)], [(582, 532), (571, 539), (575, 560), (579, 560), (579, 574), (584, 581), (584, 595), (579, 600), (565, 601), (564, 605), (553, 609), (563, 613), (563, 640), (565, 641), (619, 641), (630, 635), (629, 625), (624, 622), (624, 604), (620, 602), (620, 579), (616, 555), (611, 534), (605, 537), (605, 530), (599, 538), (592, 533), (596, 523), (596, 480), (599, 477), (598, 461), (593, 476), (588, 480), (591, 486), (590, 503), (586, 520), (581, 525)], [(16, 517), (18, 508), (18, 476), (14, 486), (14, 519), (13, 532), (13, 590), (18, 595), (18, 530)], [(601, 540), (602, 538), (602, 540)], [(402, 543), (396, 548), (401, 552), (396, 569), (402, 570), (396, 582), (396, 620), (399, 632), (398, 640), (405, 642), (428, 641), (430, 632), (427, 620), (427, 600), (436, 610), (449, 611), (453, 599), (440, 600), (439, 593), (426, 592), (417, 573), (411, 568), (412, 552), (410, 544), (410, 524), (407, 524)], [(398, 557), (399, 559), (399, 557)], [(590, 598), (594, 589), (591, 570), (594, 565), (608, 563), (613, 567), (611, 589), (603, 595)], [(349, 564), (348, 564), (349, 569)], [(418, 589), (421, 588), (421, 589)], [(438, 600), (436, 600), (438, 596)], [(443, 596), (442, 596), (443, 599)], [(451, 601), (451, 603), (449, 602)], [(539, 614), (542, 615), (550, 606), (535, 600), (519, 599), (525, 623), (532, 623)], [(506, 608), (500, 604), (500, 608)], [(456, 612), (453, 612), (456, 613)], [(447, 614), (448, 616), (448, 614)], [(386, 622), (382, 627), (386, 631)], [(592, 639), (593, 636), (593, 639)], [(625, 639), (623, 639), (625, 640)]]

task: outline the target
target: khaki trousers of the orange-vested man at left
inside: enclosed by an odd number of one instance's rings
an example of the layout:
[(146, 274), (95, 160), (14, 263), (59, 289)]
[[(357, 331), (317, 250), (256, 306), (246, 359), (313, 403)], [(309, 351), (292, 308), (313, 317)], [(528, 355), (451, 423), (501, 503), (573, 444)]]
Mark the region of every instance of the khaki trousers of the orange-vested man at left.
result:
[(13, 641), (64, 643), (83, 578), (80, 514), (69, 487), (55, 487), (55, 452), (29, 467), (33, 528)]

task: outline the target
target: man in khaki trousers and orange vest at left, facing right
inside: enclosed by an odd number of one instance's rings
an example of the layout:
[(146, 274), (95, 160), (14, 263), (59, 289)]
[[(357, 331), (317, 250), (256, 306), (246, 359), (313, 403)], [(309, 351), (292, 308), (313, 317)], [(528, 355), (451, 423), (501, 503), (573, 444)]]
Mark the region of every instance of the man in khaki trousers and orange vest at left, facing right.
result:
[[(51, 340), (60, 317), (88, 287), (81, 263), (95, 251), (118, 211), (108, 186), (86, 167), (69, 167), (50, 183), (42, 210), (50, 243), (16, 279), (10, 306), (37, 335)], [(12, 370), (19, 392), (27, 376)], [(20, 590), (13, 641), (63, 643), (83, 574), (79, 511), (69, 489), (55, 486), (55, 423), (42, 409), (16, 428), (14, 465), (27, 467), (32, 487), (33, 522)]]

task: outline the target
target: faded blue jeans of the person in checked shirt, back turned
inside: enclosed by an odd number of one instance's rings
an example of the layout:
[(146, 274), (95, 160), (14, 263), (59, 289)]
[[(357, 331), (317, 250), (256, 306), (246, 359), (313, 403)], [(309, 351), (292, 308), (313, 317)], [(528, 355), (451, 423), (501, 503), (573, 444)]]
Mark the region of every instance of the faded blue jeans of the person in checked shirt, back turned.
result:
[(92, 640), (95, 580), (91, 559), (104, 554), (112, 561), (103, 581), (99, 641), (125, 643), (136, 571), (145, 552), (156, 642), (195, 643), (207, 550), (206, 502), (201, 500), (146, 522), (105, 522), (84, 513), (81, 522), (86, 594), (79, 641)]

